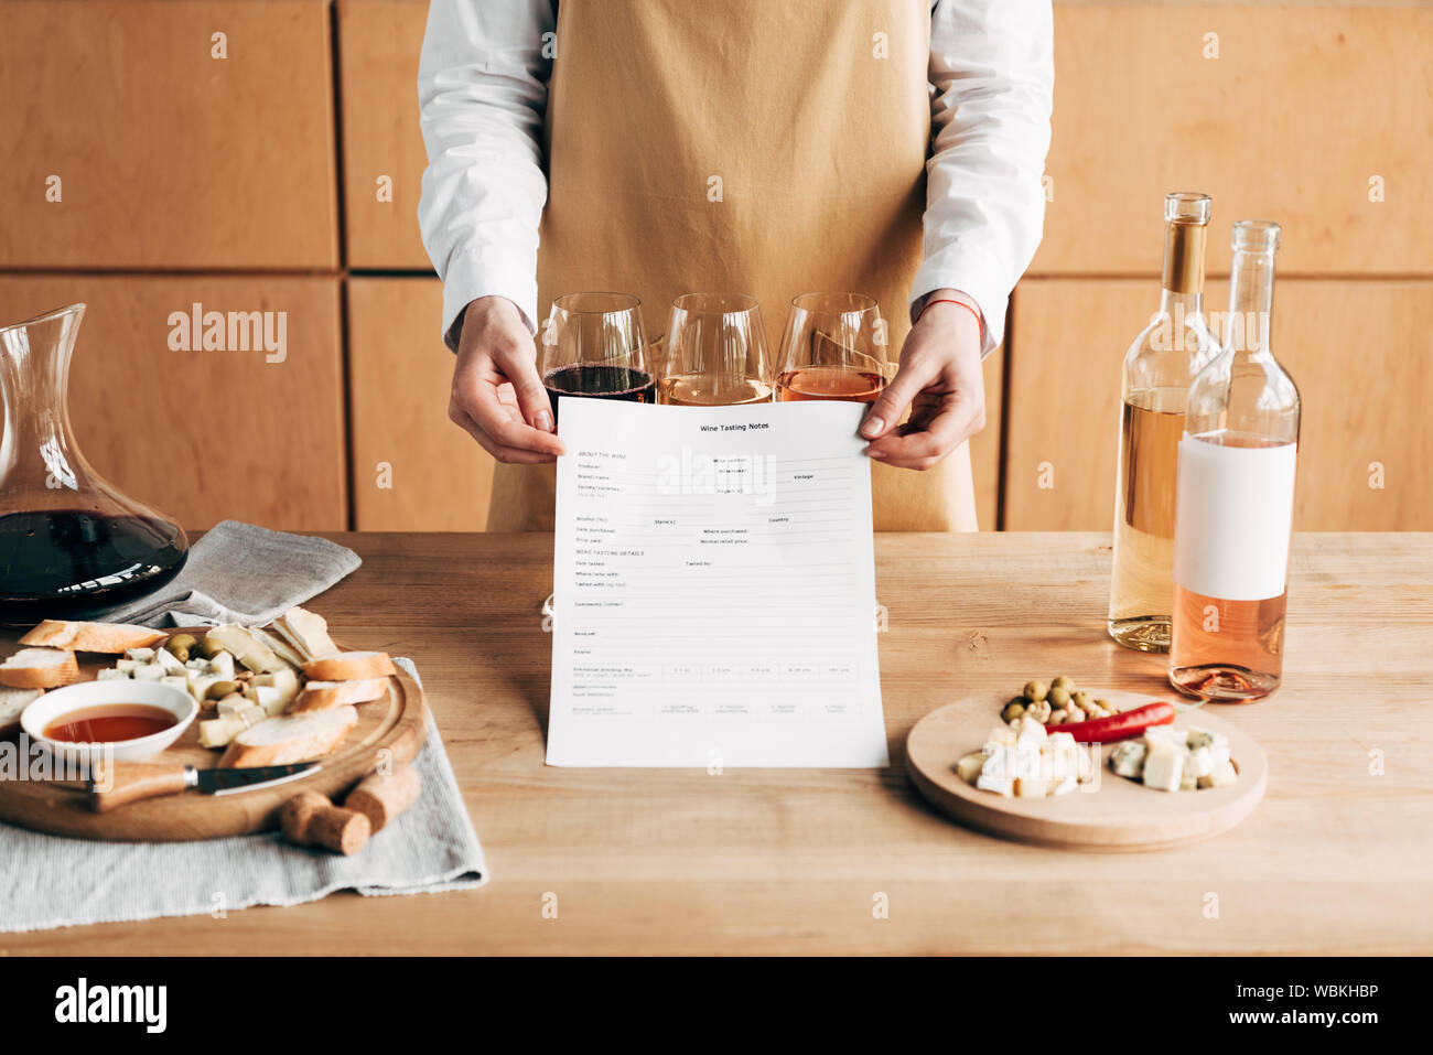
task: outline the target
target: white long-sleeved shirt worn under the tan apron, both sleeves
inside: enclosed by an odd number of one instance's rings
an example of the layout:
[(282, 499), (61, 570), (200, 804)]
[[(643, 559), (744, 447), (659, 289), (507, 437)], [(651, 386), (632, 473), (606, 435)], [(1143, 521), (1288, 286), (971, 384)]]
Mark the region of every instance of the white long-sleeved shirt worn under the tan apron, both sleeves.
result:
[[(537, 321), (542, 128), (559, 0), (431, 0), (418, 102), (428, 168), (418, 224), (443, 280), (443, 334), (479, 297)], [(1050, 0), (934, 0), (931, 156), (913, 311), (934, 290), (980, 307), (986, 347), (1045, 222), (1055, 82)]]

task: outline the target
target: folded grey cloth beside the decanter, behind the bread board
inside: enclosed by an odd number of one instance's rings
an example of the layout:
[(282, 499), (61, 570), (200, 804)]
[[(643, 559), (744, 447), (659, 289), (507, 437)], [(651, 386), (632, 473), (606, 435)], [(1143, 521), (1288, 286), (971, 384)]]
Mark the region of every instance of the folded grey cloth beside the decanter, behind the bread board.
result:
[(193, 543), (172, 582), (92, 618), (146, 626), (269, 622), (361, 563), (351, 549), (328, 539), (222, 520)]

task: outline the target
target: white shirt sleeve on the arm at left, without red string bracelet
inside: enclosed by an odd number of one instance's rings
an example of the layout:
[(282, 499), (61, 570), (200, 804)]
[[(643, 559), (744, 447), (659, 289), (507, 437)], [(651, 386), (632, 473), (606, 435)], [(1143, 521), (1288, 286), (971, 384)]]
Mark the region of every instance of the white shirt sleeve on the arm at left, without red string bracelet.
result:
[(443, 340), (500, 295), (537, 331), (542, 128), (556, 47), (553, 0), (431, 0), (418, 62), (428, 168), (418, 226), (443, 280)]

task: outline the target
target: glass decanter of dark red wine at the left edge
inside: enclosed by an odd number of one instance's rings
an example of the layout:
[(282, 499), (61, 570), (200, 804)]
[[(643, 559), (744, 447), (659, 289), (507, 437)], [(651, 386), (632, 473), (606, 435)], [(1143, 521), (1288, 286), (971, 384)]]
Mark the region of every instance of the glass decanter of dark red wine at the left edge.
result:
[(169, 582), (189, 540), (96, 473), (70, 430), (83, 304), (0, 327), (0, 624), (83, 618)]

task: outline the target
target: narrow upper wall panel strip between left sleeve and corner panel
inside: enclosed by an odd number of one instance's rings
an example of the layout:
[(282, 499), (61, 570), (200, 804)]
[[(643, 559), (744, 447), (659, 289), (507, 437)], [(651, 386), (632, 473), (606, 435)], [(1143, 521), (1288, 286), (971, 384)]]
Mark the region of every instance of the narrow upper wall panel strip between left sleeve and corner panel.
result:
[[(355, 268), (431, 269), (418, 237), (427, 153), (418, 132), (426, 0), (340, 0), (344, 218)], [(388, 182), (387, 201), (380, 181)]]

